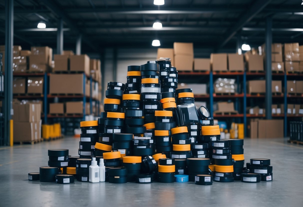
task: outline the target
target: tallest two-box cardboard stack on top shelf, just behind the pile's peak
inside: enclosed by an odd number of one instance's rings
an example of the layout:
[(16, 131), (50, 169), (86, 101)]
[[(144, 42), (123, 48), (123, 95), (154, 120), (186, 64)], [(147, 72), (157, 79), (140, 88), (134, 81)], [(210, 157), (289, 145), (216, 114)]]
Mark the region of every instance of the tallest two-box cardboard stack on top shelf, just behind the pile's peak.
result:
[(194, 62), (193, 43), (174, 43), (174, 66), (178, 71), (192, 71)]

